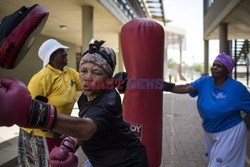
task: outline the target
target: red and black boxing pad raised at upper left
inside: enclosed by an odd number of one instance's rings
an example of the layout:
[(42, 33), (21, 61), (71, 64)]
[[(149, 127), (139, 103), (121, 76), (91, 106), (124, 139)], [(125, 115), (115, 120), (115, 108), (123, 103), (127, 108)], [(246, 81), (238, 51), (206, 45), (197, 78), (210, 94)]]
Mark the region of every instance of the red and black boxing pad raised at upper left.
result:
[(36, 4), (23, 6), (4, 17), (0, 24), (0, 66), (15, 68), (42, 31), (49, 12)]

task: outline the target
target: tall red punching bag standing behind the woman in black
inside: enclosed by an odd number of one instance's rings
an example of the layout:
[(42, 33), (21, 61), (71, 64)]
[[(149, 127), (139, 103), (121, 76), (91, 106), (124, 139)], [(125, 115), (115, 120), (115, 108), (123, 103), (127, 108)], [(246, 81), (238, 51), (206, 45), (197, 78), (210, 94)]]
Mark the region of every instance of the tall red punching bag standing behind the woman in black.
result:
[(160, 166), (164, 29), (151, 19), (133, 19), (121, 29), (121, 48), (128, 75), (124, 118), (146, 146), (150, 166)]

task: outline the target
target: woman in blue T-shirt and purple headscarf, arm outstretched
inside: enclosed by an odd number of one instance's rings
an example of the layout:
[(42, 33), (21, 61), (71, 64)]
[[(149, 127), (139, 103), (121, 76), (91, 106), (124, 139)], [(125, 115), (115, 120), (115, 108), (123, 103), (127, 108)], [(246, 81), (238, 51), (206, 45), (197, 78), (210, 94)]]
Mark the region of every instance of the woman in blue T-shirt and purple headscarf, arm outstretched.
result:
[(230, 77), (233, 68), (234, 60), (221, 53), (211, 67), (212, 76), (202, 76), (187, 85), (163, 86), (165, 91), (198, 96), (209, 167), (245, 166), (247, 130), (241, 111), (250, 114), (250, 93)]

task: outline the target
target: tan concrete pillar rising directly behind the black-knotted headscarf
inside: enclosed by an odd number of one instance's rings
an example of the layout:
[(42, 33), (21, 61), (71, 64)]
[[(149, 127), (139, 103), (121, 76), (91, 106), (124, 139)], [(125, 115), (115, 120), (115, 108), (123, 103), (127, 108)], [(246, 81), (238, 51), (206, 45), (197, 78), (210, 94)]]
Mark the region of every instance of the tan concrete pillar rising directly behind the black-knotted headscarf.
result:
[(83, 51), (94, 37), (93, 7), (82, 6), (82, 47)]

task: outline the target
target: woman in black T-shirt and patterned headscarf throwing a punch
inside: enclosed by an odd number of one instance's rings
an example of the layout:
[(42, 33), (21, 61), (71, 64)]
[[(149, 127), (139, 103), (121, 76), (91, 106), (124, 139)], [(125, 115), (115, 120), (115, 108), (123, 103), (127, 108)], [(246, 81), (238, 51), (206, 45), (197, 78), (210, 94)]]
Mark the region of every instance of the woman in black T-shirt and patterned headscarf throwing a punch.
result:
[[(102, 47), (104, 41), (90, 44), (79, 63), (83, 94), (78, 100), (79, 118), (57, 115), (53, 130), (78, 139), (94, 167), (147, 167), (145, 146), (130, 130), (122, 115), (121, 98), (110, 80), (116, 57), (113, 49)], [(50, 155), (51, 165), (59, 164)], [(66, 163), (67, 157), (60, 164)], [(72, 158), (70, 158), (72, 159)]]

